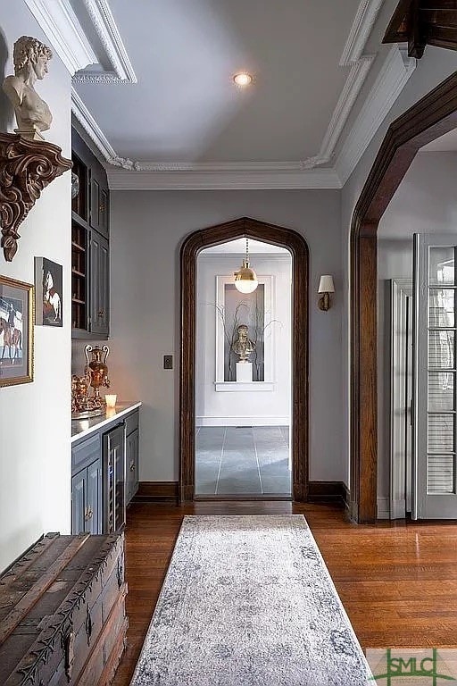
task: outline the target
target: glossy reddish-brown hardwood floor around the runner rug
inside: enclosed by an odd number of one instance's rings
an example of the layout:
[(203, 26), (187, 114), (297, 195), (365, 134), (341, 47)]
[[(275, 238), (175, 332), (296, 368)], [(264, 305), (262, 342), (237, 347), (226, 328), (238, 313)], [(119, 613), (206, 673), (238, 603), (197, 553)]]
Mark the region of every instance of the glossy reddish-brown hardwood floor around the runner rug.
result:
[(114, 686), (128, 686), (184, 515), (303, 514), (362, 648), (457, 647), (457, 524), (345, 521), (336, 506), (200, 502), (129, 506), (128, 646)]

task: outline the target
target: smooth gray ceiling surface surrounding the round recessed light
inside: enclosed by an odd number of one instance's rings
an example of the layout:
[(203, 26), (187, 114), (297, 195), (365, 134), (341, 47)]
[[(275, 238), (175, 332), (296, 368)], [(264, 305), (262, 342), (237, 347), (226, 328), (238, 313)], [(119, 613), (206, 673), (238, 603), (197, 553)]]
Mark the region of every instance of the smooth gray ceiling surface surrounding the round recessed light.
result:
[[(79, 83), (122, 157), (281, 162), (315, 155), (345, 85), (360, 0), (111, 0), (137, 84)], [(238, 70), (255, 83), (240, 90)]]

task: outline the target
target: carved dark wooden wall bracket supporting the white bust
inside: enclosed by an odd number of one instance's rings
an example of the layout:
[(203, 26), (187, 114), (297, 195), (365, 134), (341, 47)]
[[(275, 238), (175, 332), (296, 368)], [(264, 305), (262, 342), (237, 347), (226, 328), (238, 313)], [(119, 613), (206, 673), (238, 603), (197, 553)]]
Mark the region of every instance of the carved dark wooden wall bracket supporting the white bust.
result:
[(18, 133), (0, 133), (0, 225), (4, 259), (12, 262), (21, 238), (18, 229), (43, 188), (71, 169), (62, 149)]

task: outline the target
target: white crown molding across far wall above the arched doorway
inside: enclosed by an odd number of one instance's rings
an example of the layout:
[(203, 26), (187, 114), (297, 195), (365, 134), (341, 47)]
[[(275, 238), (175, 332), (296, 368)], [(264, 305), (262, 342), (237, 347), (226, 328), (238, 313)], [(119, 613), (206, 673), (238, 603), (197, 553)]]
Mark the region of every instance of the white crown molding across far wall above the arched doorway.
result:
[[(269, 164), (269, 163), (267, 163)], [(287, 171), (282, 163), (271, 168), (253, 170), (251, 164), (238, 164), (224, 170), (214, 164), (205, 171), (126, 171), (109, 167), (111, 190), (286, 190), (303, 188), (341, 188), (333, 169)], [(193, 165), (194, 166), (194, 165)], [(282, 168), (281, 168), (282, 167)]]

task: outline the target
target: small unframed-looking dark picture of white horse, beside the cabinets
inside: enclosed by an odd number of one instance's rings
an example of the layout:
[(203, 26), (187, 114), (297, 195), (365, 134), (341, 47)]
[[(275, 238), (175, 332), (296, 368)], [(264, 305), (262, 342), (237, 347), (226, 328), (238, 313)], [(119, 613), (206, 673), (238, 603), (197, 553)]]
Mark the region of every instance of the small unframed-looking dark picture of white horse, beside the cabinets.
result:
[(62, 326), (62, 264), (35, 258), (37, 326)]

